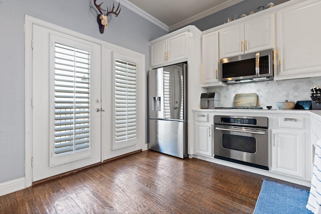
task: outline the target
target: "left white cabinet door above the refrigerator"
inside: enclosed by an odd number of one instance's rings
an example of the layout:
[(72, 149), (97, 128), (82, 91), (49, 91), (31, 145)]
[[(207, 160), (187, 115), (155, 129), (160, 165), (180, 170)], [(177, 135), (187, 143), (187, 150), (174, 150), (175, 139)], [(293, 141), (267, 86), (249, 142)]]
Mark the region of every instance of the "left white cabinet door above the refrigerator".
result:
[(166, 63), (167, 40), (152, 44), (150, 46), (150, 66)]

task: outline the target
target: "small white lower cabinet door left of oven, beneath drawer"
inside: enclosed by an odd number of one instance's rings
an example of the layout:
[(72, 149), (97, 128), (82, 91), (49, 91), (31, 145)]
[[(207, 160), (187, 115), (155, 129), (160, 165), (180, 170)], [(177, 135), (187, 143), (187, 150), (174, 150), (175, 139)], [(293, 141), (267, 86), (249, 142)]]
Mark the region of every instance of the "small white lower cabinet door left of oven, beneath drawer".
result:
[(211, 124), (195, 123), (196, 153), (213, 157)]

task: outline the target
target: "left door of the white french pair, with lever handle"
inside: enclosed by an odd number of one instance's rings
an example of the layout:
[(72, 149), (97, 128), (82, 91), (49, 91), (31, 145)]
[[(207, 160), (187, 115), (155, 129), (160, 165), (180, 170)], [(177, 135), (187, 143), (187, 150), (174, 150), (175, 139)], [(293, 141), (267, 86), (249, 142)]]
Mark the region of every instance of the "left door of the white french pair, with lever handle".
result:
[(101, 161), (100, 50), (33, 25), (33, 181)]

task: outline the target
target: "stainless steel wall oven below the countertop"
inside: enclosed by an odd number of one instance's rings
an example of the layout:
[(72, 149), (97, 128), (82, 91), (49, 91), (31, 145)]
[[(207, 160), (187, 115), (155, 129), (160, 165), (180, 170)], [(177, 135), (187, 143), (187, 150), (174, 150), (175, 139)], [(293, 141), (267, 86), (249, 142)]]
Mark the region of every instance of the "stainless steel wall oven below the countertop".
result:
[(214, 116), (214, 158), (269, 170), (268, 118)]

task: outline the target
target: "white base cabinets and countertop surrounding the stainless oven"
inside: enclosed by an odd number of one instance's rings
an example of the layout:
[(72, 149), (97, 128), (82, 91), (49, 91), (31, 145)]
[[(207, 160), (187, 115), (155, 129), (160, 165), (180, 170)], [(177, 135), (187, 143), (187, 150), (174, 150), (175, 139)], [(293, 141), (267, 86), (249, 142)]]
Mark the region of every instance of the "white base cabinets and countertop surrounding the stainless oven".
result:
[[(194, 111), (194, 152), (192, 154), (200, 156), (201, 159), (206, 157), (206, 160), (216, 162), (217, 159), (213, 157), (214, 115), (248, 116), (249, 112)], [(270, 170), (267, 176), (303, 185), (311, 181), (313, 144), (321, 139), (321, 115), (311, 117), (306, 111), (298, 110), (269, 111), (268, 114), (264, 111), (256, 111), (251, 115), (268, 117)], [(222, 162), (222, 160), (219, 161), (219, 163)]]

